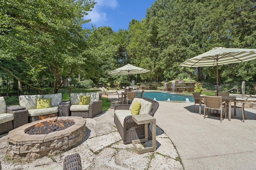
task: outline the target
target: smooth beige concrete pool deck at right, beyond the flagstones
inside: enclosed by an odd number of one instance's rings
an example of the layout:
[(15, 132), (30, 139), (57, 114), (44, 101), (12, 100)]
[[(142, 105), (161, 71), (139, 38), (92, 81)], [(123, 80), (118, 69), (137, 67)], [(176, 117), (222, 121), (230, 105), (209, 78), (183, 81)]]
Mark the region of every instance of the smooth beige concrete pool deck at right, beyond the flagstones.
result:
[[(114, 97), (114, 96), (113, 96)], [(255, 100), (255, 99), (253, 99)], [(241, 110), (231, 121), (204, 116), (194, 102), (159, 102), (156, 125), (170, 137), (185, 170), (256, 169), (256, 109)], [(157, 151), (157, 150), (156, 150)]]

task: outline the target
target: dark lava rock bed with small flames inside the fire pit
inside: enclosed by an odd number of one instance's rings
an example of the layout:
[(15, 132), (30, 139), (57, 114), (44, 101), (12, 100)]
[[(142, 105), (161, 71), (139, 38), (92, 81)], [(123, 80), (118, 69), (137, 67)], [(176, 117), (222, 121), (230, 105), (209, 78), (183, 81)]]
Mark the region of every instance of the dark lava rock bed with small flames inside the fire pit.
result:
[(34, 125), (28, 129), (26, 133), (29, 135), (48, 134), (51, 132), (64, 130), (74, 124), (75, 122), (72, 120), (45, 121)]

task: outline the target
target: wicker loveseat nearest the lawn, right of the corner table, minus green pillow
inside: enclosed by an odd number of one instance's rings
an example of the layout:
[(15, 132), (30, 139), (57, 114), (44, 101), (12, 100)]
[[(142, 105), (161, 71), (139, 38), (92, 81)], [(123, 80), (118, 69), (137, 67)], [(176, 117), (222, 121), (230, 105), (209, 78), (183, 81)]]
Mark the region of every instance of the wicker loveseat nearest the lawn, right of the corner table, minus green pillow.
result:
[[(88, 105), (79, 105), (80, 95), (90, 96), (90, 103)], [(71, 116), (89, 117), (102, 113), (102, 94), (98, 92), (92, 93), (70, 93), (70, 111)]]

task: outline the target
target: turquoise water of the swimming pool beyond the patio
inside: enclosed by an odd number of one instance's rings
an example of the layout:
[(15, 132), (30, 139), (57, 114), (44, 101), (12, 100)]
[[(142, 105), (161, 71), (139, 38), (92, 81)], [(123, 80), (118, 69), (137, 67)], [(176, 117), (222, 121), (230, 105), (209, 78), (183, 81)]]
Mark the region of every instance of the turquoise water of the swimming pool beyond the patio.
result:
[[(140, 92), (138, 92), (138, 96), (140, 96)], [(156, 101), (167, 101), (168, 99), (170, 99), (170, 101), (194, 102), (193, 96), (168, 92), (144, 92), (143, 97), (152, 100), (156, 98)]]

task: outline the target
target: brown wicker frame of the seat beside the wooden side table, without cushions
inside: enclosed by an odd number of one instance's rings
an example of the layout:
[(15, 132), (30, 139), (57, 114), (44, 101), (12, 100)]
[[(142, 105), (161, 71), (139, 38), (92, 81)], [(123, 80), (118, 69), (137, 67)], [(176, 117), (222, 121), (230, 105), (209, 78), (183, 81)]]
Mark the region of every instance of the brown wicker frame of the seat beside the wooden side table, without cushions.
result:
[[(156, 110), (159, 107), (158, 102), (148, 98), (142, 98), (142, 99), (152, 103), (151, 111), (148, 114), (151, 116), (154, 116), (154, 114), (156, 113)], [(114, 110), (117, 110), (117, 109), (128, 110), (129, 107), (130, 107), (130, 104), (119, 104), (115, 106)], [(137, 125), (132, 120), (132, 115), (128, 115), (124, 118), (124, 127), (123, 127), (120, 121), (118, 120), (116, 114), (114, 114), (114, 123), (116, 124), (116, 128), (118, 129), (124, 144), (132, 143), (132, 141), (136, 139), (145, 138), (144, 125)], [(152, 132), (150, 131), (149, 128), (148, 128), (148, 140), (152, 140)]]

